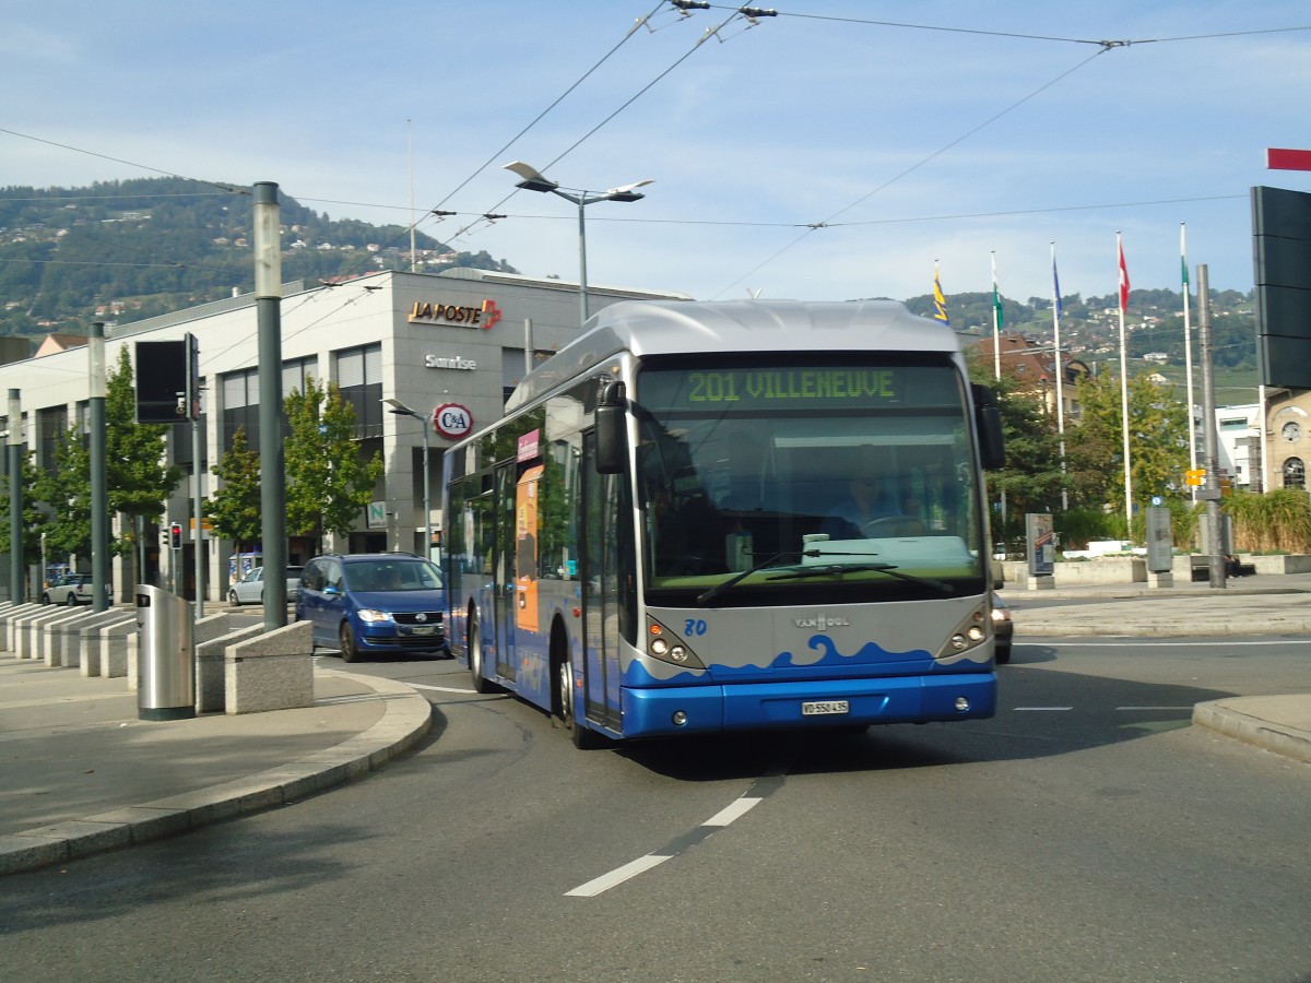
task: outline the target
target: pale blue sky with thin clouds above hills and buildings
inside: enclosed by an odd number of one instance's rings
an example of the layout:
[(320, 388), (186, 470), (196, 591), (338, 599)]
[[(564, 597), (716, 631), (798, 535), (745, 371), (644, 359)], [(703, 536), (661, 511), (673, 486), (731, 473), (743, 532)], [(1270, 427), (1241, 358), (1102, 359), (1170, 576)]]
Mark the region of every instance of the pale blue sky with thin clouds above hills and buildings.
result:
[[(1306, 0), (0, 0), (0, 194), (176, 174), (703, 300), (1252, 288), (1249, 190), (1311, 191)], [(1105, 42), (1105, 43), (1103, 43)], [(434, 210), (454, 211), (434, 216)], [(503, 215), (494, 220), (482, 216)], [(408, 246), (408, 237), (395, 245)], [(166, 261), (166, 257), (161, 257)]]

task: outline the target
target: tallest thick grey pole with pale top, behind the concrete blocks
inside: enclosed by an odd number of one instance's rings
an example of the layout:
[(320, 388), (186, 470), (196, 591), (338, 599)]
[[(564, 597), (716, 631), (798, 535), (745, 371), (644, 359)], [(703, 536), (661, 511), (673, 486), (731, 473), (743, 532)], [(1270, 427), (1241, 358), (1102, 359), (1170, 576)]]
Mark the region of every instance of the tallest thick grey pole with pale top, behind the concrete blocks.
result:
[(254, 294), (260, 333), (260, 515), (264, 626), (287, 624), (287, 469), (282, 447), (282, 252), (278, 185), (254, 186)]

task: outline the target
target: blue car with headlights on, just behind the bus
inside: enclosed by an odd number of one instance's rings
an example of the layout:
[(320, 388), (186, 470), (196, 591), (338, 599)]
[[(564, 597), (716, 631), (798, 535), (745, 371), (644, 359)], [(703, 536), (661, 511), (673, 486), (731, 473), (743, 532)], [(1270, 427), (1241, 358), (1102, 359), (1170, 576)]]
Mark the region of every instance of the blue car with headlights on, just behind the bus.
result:
[(305, 564), (296, 620), (342, 662), (372, 653), (450, 658), (437, 565), (412, 553), (325, 553)]

